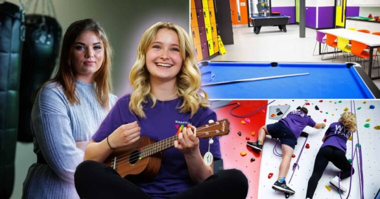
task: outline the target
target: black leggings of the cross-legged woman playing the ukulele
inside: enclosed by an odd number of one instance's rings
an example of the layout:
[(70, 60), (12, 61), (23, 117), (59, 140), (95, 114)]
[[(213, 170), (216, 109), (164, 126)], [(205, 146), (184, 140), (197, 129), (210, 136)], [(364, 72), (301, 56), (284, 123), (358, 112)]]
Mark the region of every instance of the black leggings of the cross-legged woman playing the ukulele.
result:
[[(150, 198), (140, 187), (122, 178), (110, 166), (92, 160), (75, 171), (75, 188), (81, 198)], [(204, 182), (172, 198), (246, 198), (248, 180), (237, 169), (221, 170)]]

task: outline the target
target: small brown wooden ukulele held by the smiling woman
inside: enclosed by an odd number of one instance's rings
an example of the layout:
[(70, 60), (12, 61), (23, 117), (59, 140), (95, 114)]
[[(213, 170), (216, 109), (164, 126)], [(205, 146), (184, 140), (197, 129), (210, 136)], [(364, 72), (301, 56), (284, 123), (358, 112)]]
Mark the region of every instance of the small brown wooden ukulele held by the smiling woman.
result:
[[(201, 138), (222, 136), (230, 132), (229, 125), (230, 122), (223, 119), (202, 125), (194, 131), (196, 136)], [(163, 155), (160, 152), (174, 146), (177, 139), (178, 135), (174, 135), (154, 142), (146, 136), (141, 136), (128, 146), (116, 148), (104, 163), (115, 169), (121, 177), (141, 174), (153, 178), (161, 165)]]

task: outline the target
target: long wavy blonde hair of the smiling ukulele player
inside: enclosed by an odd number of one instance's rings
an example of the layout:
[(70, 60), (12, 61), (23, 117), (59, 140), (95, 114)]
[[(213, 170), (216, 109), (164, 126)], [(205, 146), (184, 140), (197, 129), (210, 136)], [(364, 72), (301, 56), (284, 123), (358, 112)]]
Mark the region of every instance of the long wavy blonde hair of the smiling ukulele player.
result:
[(147, 103), (150, 99), (152, 107), (156, 104), (157, 98), (151, 91), (149, 71), (145, 64), (145, 53), (160, 28), (174, 30), (178, 35), (180, 55), (183, 60), (176, 77), (177, 93), (183, 98), (178, 108), (180, 112), (191, 112), (193, 116), (200, 106), (209, 106), (208, 94), (201, 89), (201, 71), (195, 60), (193, 43), (182, 27), (171, 22), (157, 22), (141, 36), (137, 46), (136, 61), (129, 73), (129, 82), (134, 89), (130, 96), (129, 108), (139, 117), (145, 117), (143, 103)]

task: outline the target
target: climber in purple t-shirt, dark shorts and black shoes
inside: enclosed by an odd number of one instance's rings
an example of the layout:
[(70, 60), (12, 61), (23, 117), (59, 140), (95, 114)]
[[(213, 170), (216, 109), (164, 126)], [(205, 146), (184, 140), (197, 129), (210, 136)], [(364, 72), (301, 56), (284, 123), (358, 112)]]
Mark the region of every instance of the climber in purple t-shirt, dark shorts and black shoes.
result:
[(280, 121), (268, 125), (264, 125), (259, 129), (259, 138), (257, 142), (247, 141), (247, 145), (255, 150), (262, 151), (264, 139), (266, 135), (271, 135), (272, 138), (279, 138), (282, 148), (282, 160), (279, 167), (279, 175), (272, 188), (278, 191), (294, 194), (295, 191), (286, 185), (285, 177), (288, 173), (290, 160), (294, 152), (294, 147), (297, 144), (297, 139), (302, 130), (306, 126), (321, 128), (326, 126), (325, 123), (316, 123), (310, 116), (307, 115), (308, 110), (301, 107), (299, 110), (289, 112), (285, 118)]

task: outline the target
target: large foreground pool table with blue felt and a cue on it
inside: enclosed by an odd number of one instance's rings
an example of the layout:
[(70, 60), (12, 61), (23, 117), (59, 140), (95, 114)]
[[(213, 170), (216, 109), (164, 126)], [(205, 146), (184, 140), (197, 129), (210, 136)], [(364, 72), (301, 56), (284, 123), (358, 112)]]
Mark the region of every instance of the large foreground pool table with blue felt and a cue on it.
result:
[[(380, 90), (357, 63), (201, 61), (202, 89), (210, 99), (380, 98)], [(205, 85), (254, 77), (309, 73), (257, 81)]]

